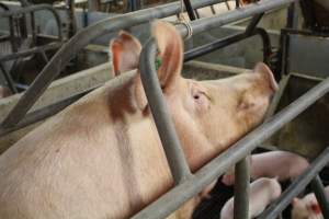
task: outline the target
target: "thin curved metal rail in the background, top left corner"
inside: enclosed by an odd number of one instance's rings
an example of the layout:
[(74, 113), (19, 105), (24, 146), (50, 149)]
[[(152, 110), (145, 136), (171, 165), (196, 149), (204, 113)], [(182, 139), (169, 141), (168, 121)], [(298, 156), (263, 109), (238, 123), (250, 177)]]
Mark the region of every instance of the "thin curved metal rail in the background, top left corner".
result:
[(15, 11), (10, 11), (10, 12), (3, 12), (0, 14), (0, 18), (10, 18), (19, 14), (26, 14), (26, 13), (32, 13), (35, 11), (41, 11), (41, 10), (46, 10), (53, 13), (56, 23), (57, 23), (57, 28), (58, 28), (58, 39), (61, 41), (61, 23), (60, 23), (60, 18), (57, 13), (57, 11), (50, 5), (50, 4), (36, 4), (36, 5), (27, 5), (25, 8), (15, 10)]

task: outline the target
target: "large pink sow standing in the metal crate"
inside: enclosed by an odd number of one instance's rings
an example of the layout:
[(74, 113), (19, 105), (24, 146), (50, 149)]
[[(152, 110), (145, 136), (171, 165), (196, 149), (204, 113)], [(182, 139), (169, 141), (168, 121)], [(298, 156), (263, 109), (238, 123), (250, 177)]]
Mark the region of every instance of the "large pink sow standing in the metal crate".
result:
[[(155, 22), (152, 35), (162, 59), (162, 92), (195, 172), (262, 120), (276, 83), (264, 64), (254, 73), (223, 80), (183, 79), (180, 34)], [(140, 44), (122, 32), (111, 53), (115, 79), (0, 157), (0, 218), (129, 218), (172, 188), (140, 81)], [(197, 204), (191, 203), (189, 209)]]

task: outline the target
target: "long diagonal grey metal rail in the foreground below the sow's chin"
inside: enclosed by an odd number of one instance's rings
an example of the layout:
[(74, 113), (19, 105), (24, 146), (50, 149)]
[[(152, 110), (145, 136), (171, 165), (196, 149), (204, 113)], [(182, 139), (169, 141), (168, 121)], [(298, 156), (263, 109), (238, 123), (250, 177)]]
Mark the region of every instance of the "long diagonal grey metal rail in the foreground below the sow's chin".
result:
[(207, 163), (198, 170), (193, 177), (173, 187), (133, 218), (149, 219), (167, 217), (170, 212), (177, 210), (180, 205), (195, 196), (202, 188), (225, 173), (228, 168), (240, 161), (246, 154), (251, 152), (286, 123), (294, 119), (298, 114), (324, 96), (328, 91), (329, 79), (326, 79)]

